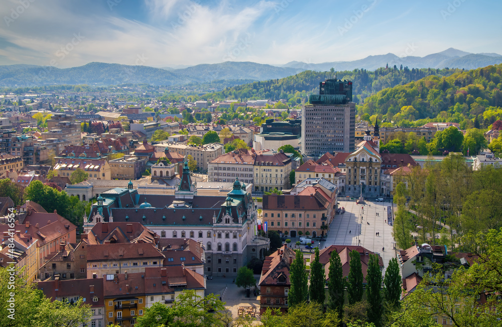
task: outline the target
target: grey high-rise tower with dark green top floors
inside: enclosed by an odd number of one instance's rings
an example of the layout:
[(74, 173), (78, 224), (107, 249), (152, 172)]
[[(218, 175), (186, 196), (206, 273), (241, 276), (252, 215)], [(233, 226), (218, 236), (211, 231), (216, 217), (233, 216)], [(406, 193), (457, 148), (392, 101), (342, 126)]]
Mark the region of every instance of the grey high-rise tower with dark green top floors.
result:
[(352, 81), (320, 82), (319, 95), (311, 95), (309, 102), (302, 108), (302, 152), (308, 156), (352, 152), (355, 137)]

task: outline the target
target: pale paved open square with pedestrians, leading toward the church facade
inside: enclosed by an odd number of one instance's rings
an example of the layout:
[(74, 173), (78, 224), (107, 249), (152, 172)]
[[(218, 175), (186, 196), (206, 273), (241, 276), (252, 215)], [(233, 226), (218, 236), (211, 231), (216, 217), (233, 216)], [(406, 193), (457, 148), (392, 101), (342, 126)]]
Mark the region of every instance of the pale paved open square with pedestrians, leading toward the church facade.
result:
[[(338, 208), (344, 207), (345, 213), (335, 215), (326, 241), (321, 242), (320, 248), (330, 245), (359, 244), (379, 253), (387, 268), (389, 260), (396, 256), (392, 226), (386, 222), (387, 207), (390, 205), (392, 204), (389, 202), (366, 201), (364, 205), (360, 205), (354, 201), (339, 201)], [(377, 232), (380, 233), (379, 236), (375, 235)]]

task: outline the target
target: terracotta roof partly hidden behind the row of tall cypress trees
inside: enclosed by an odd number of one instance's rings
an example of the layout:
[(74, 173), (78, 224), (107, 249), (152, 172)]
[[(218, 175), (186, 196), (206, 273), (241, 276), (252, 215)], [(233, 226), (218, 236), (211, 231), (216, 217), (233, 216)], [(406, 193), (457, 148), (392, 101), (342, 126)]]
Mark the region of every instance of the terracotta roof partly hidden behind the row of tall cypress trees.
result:
[[(350, 252), (356, 250), (361, 255), (361, 266), (362, 266), (362, 275), (363, 275), (363, 283), (366, 283), (366, 274), (369, 263), (369, 255), (375, 254), (372, 251), (369, 251), (362, 246), (356, 245), (331, 245), (330, 247), (324, 248), (319, 251), (319, 262), (321, 262), (324, 266), (326, 273), (326, 281), (329, 280), (329, 259), (331, 258), (331, 252), (337, 251), (340, 256), (340, 261), (342, 263), (342, 271), (343, 276), (348, 276), (350, 271)], [(366, 255), (367, 253), (367, 255)], [(315, 254), (311, 254), (311, 262), (314, 259)], [(384, 268), (384, 260), (379, 255), (379, 265), (381, 269)]]

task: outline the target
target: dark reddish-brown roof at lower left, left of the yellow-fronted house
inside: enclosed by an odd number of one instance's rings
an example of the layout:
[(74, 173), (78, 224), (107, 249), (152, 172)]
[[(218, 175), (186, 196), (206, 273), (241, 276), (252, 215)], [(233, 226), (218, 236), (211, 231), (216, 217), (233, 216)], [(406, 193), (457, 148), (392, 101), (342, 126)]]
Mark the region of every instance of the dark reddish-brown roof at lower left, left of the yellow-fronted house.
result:
[[(37, 287), (53, 301), (57, 297), (78, 296), (85, 298), (84, 304), (104, 306), (103, 278), (40, 281)], [(94, 297), (98, 298), (97, 302), (93, 302)]]

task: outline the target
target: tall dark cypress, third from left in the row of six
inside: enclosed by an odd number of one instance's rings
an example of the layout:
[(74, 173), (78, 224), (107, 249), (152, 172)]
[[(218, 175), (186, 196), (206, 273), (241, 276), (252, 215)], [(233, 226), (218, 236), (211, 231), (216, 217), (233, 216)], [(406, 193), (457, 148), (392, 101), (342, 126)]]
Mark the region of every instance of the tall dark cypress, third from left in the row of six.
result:
[(343, 302), (345, 301), (345, 278), (343, 277), (342, 262), (338, 252), (332, 251), (329, 259), (328, 307), (338, 312), (338, 317), (343, 316)]

